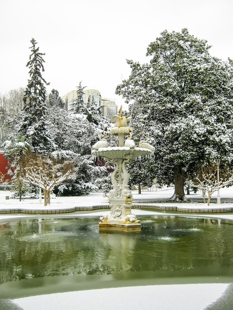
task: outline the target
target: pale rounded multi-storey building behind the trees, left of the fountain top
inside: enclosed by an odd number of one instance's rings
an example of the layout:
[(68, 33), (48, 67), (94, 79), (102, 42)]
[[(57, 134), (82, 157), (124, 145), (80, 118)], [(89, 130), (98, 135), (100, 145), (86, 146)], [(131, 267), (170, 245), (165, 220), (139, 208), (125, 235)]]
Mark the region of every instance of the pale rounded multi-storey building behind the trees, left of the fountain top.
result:
[[(104, 116), (112, 118), (113, 115), (117, 114), (117, 104), (109, 99), (104, 99), (101, 97), (101, 94), (96, 89), (87, 89), (84, 90), (83, 101), (88, 102), (88, 98), (92, 96), (96, 106), (101, 106)], [(63, 102), (65, 103), (67, 111), (72, 111), (75, 108), (75, 99), (77, 98), (77, 91), (71, 91), (65, 96), (62, 97)]]

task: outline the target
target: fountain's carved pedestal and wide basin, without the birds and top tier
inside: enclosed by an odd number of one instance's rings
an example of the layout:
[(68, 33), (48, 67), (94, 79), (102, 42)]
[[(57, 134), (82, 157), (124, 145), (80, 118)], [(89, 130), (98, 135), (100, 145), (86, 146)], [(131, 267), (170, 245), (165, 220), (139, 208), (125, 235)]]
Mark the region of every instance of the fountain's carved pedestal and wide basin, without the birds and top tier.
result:
[(92, 154), (116, 165), (112, 173), (113, 189), (107, 194), (111, 212), (101, 216), (100, 230), (140, 231), (140, 221), (131, 212), (133, 197), (128, 185), (127, 163), (141, 155), (151, 155), (151, 151), (137, 147), (133, 150), (129, 147), (108, 147), (93, 150)]

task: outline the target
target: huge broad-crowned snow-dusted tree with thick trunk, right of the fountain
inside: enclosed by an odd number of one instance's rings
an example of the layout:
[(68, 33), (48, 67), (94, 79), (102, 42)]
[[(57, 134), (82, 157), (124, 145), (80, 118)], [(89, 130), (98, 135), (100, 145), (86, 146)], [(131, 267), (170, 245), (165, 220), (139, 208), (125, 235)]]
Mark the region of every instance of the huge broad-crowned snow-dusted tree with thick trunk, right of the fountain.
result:
[(127, 60), (131, 74), (116, 90), (132, 101), (130, 126), (147, 132), (156, 179), (175, 183), (175, 200), (185, 200), (184, 181), (197, 164), (232, 162), (233, 62), (209, 49), (187, 29), (164, 31), (147, 49), (149, 63)]

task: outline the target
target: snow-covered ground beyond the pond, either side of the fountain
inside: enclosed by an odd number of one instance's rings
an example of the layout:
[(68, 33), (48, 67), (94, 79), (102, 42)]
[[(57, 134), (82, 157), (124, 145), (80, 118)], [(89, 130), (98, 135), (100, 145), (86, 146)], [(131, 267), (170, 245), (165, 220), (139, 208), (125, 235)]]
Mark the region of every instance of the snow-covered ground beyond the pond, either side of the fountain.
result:
[[(142, 194), (138, 194), (137, 191), (133, 191), (133, 213), (138, 215), (142, 214), (149, 214), (149, 213), (155, 213), (155, 210), (151, 211), (144, 211), (142, 209), (139, 209), (140, 205), (153, 205), (153, 206), (175, 206), (182, 209), (197, 209), (197, 208), (229, 208), (233, 207), (233, 187), (229, 188), (223, 188), (220, 191), (221, 194), (221, 205), (217, 205), (217, 192), (215, 192), (212, 196), (211, 204), (208, 207), (207, 204), (203, 203), (202, 194), (200, 192), (191, 193), (190, 195), (187, 195), (186, 198), (188, 199), (188, 202), (168, 202), (170, 197), (174, 194), (174, 188), (164, 188), (161, 190), (158, 190), (156, 192), (147, 192), (143, 191)], [(19, 199), (7, 199), (6, 197), (10, 197), (11, 192), (9, 191), (0, 191), (0, 209), (33, 209), (38, 210), (38, 214), (40, 213), (40, 210), (42, 209), (66, 209), (66, 208), (74, 208), (74, 207), (90, 207), (90, 206), (108, 206), (108, 198), (104, 197), (103, 193), (91, 193), (87, 196), (75, 196), (75, 197), (56, 197), (55, 199), (51, 200), (51, 205), (44, 207), (43, 200), (42, 204), (39, 204), (38, 199), (25, 199), (23, 201), (19, 201)], [(138, 207), (138, 208), (137, 208)], [(106, 210), (102, 211), (106, 213)], [(195, 213), (195, 212), (194, 212)], [(225, 218), (233, 218), (233, 215), (227, 214), (226, 212)], [(88, 213), (90, 215), (90, 213)], [(100, 216), (100, 211), (92, 212), (92, 216)], [(7, 215), (1, 215), (0, 219), (3, 218), (9, 218), (12, 216), (16, 216), (17, 214), (14, 213), (13, 215), (7, 214)], [(36, 215), (36, 214), (34, 214)], [(70, 216), (74, 216), (74, 214), (71, 212), (69, 213)], [(83, 214), (84, 215), (84, 214)], [(208, 214), (210, 215), (210, 213)], [(25, 216), (25, 215), (21, 215)], [(219, 215), (218, 215), (219, 216)], [(226, 217), (227, 216), (227, 217)]]

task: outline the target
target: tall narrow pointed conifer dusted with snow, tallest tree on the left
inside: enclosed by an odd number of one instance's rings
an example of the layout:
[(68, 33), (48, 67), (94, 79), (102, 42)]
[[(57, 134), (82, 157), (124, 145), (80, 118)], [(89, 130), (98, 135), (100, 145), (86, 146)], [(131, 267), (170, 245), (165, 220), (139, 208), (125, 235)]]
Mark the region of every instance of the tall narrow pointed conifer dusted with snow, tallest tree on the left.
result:
[(46, 127), (46, 85), (49, 83), (42, 77), (45, 54), (39, 52), (35, 39), (31, 43), (32, 53), (27, 63), (30, 79), (23, 98), (24, 115), (18, 134), (26, 138), (32, 152), (48, 154), (54, 151), (55, 144)]

